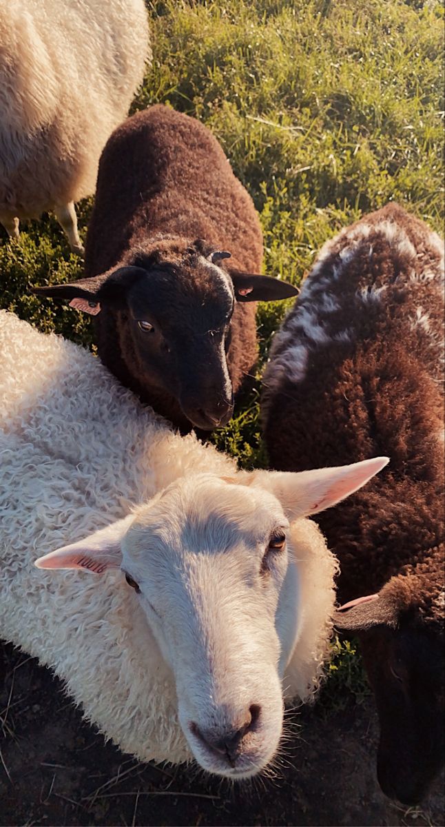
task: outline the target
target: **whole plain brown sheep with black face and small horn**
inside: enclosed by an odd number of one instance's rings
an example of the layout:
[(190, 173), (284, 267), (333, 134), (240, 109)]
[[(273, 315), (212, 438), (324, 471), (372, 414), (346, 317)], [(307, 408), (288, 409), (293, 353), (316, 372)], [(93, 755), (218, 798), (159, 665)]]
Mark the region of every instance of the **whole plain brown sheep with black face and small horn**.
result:
[(256, 300), (297, 292), (253, 275), (261, 261), (255, 207), (216, 138), (154, 106), (103, 150), (87, 278), (36, 292), (97, 313), (99, 356), (122, 385), (183, 431), (212, 430), (255, 365)]

